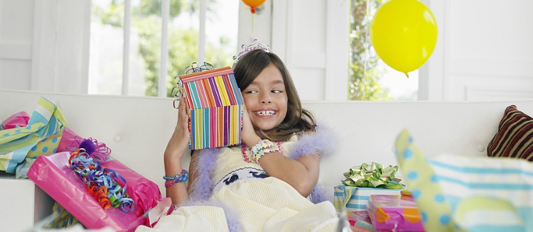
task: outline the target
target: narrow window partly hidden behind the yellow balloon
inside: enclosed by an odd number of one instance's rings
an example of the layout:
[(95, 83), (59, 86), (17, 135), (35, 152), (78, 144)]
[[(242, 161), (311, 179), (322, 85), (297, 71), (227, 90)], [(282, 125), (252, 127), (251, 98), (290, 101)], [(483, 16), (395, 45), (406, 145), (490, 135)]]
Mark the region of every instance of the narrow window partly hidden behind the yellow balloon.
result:
[(383, 3), (383, 0), (350, 0), (349, 100), (418, 99), (418, 70), (405, 77), (385, 65), (370, 42), (370, 23)]

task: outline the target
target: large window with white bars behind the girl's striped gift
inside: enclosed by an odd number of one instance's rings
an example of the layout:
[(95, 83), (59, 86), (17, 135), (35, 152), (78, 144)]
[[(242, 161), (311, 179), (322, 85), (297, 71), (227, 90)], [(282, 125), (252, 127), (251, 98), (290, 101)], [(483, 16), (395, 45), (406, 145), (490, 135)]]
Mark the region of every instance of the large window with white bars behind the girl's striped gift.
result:
[(171, 96), (192, 62), (232, 64), (238, 1), (92, 1), (89, 94)]

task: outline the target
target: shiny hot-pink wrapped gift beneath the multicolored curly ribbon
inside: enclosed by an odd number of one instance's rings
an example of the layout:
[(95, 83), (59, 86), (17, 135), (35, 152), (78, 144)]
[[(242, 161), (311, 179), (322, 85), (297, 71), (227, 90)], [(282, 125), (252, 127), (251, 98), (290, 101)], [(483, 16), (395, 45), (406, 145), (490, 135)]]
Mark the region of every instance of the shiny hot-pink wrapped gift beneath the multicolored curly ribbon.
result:
[(28, 177), (87, 228), (134, 231), (137, 226), (146, 223), (144, 214), (161, 199), (161, 192), (154, 182), (117, 160), (104, 162), (102, 167), (124, 177), (124, 183), (121, 181), (119, 184), (126, 184), (126, 192), (135, 204), (135, 209), (129, 213), (114, 207), (104, 209), (72, 170), (69, 158), (69, 152), (41, 155), (28, 170)]

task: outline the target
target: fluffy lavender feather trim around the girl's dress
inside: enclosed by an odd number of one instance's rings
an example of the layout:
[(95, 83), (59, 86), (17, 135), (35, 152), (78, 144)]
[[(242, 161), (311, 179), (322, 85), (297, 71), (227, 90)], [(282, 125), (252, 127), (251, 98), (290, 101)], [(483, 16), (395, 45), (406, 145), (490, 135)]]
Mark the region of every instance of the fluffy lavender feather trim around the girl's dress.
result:
[[(308, 155), (320, 155), (321, 158), (326, 158), (334, 152), (335, 133), (328, 127), (317, 126), (314, 133), (306, 133), (296, 142), (296, 147), (289, 158), (296, 160)], [(212, 179), (211, 173), (216, 168), (216, 160), (219, 150), (217, 148), (199, 150), (195, 155), (198, 155), (196, 163), (197, 179), (191, 186), (190, 201), (207, 201), (211, 195), (213, 186), (215, 186), (215, 179)], [(311, 201), (318, 204), (322, 201), (330, 201), (325, 197), (325, 189), (318, 185), (311, 192)]]

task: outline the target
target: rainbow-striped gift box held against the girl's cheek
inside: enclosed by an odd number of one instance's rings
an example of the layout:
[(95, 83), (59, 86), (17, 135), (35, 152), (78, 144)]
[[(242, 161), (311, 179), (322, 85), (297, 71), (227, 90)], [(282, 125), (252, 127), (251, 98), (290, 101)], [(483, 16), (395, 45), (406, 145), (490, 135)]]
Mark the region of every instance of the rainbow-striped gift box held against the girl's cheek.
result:
[(241, 143), (244, 100), (230, 67), (180, 76), (189, 107), (189, 148)]

